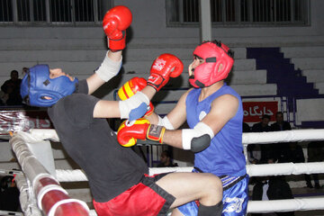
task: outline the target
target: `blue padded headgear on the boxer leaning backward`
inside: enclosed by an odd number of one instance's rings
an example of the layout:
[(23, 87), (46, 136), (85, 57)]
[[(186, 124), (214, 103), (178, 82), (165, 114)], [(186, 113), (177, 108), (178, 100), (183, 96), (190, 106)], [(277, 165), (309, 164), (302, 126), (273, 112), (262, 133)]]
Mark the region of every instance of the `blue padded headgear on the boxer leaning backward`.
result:
[[(31, 67), (23, 77), (21, 95), (31, 106), (49, 107), (76, 90), (77, 78), (72, 82), (67, 76), (49, 78), (48, 65)], [(45, 99), (49, 96), (51, 99)]]

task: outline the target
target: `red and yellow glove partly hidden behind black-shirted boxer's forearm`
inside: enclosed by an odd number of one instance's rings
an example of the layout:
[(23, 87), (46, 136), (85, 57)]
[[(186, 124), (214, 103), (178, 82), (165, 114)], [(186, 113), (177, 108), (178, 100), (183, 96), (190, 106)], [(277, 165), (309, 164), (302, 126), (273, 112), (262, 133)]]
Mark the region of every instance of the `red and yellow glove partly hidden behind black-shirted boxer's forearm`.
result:
[[(126, 82), (121, 88), (118, 90), (118, 96), (121, 98), (121, 101), (129, 99), (132, 95), (141, 91), (147, 85), (147, 81), (142, 77), (132, 77), (130, 81)], [(151, 115), (154, 112), (154, 106), (150, 102), (148, 106), (148, 112), (145, 113), (144, 116)]]

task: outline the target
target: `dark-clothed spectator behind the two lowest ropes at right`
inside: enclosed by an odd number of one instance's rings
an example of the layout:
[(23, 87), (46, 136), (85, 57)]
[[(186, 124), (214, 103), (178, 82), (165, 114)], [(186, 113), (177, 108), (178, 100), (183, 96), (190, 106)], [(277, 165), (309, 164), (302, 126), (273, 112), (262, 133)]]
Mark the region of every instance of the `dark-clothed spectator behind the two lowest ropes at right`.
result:
[[(268, 159), (268, 164), (273, 164), (274, 159)], [(286, 182), (284, 175), (260, 177), (260, 181), (254, 185), (252, 200), (283, 200), (293, 199), (293, 192), (290, 185)], [(252, 216), (261, 216), (261, 213), (253, 213)], [(275, 212), (278, 216), (293, 216), (294, 212)]]

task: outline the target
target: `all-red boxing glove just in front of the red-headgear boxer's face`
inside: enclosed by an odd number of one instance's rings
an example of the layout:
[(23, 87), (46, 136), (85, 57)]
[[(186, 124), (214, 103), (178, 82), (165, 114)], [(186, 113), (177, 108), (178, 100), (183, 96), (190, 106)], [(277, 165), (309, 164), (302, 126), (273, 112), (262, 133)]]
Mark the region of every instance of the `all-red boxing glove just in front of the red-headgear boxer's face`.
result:
[(162, 54), (153, 62), (148, 77), (148, 85), (154, 87), (157, 92), (166, 85), (170, 76), (180, 76), (184, 70), (183, 62), (172, 54)]

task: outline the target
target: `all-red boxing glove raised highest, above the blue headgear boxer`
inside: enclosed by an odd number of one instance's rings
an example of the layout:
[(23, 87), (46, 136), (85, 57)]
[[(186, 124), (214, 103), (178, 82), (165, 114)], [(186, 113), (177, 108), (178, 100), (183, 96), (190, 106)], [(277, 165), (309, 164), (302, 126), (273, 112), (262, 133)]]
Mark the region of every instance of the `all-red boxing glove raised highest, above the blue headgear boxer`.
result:
[(126, 6), (112, 7), (103, 17), (103, 31), (107, 35), (109, 49), (119, 51), (125, 48), (126, 29), (130, 27), (132, 15)]

